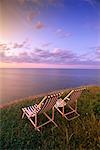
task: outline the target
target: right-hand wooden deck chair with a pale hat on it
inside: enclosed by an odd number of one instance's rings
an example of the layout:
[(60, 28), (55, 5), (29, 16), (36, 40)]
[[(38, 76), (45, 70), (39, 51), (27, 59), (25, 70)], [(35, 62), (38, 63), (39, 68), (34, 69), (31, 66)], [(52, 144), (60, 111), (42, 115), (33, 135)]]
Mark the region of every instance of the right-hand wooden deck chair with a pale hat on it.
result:
[(77, 100), (84, 89), (71, 90), (64, 99), (58, 99), (55, 108), (67, 120), (73, 120), (79, 116), (77, 112)]

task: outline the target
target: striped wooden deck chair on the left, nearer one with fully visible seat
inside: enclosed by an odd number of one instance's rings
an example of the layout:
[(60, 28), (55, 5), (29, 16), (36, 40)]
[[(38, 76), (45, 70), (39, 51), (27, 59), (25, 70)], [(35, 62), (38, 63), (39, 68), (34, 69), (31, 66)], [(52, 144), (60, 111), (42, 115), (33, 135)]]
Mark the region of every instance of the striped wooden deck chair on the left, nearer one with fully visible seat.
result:
[[(40, 131), (39, 128), (41, 128), (42, 126), (50, 122), (52, 122), (57, 127), (57, 124), (54, 122), (54, 105), (60, 96), (61, 96), (61, 93), (48, 95), (48, 96), (45, 96), (39, 104), (35, 104), (34, 106), (22, 108), (22, 111), (23, 111), (22, 118), (24, 117), (24, 115), (26, 115), (29, 121), (32, 123), (32, 125), (35, 127), (37, 131)], [(47, 112), (50, 109), (52, 109), (52, 117), (50, 117), (47, 114)], [(48, 121), (41, 125), (38, 125), (39, 124), (38, 116), (42, 113), (47, 117)]]

